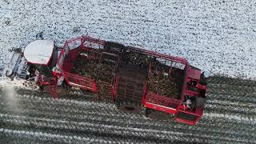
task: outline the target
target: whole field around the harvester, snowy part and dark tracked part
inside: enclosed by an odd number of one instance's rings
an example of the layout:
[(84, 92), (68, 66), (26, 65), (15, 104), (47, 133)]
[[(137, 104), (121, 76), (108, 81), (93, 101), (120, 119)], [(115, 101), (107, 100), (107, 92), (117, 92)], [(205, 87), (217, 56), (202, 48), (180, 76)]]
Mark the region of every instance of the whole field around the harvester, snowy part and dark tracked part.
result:
[[(0, 70), (8, 49), (38, 34), (58, 46), (89, 34), (187, 58), (212, 74), (256, 79), (255, 1), (0, 0)], [(187, 126), (126, 114), (78, 92), (51, 99), (0, 79), (0, 143), (256, 143), (255, 86), (208, 78), (204, 115)]]

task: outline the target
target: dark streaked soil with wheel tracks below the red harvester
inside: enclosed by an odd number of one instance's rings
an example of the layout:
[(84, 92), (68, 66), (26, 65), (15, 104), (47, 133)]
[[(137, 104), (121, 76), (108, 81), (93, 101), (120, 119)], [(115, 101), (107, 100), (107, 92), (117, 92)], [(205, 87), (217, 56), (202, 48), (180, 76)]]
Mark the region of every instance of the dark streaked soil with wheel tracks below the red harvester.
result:
[(196, 126), (127, 114), (111, 103), (89, 101), (79, 92), (51, 99), (46, 93), (19, 89), (15, 96), (19, 111), (10, 109), (0, 96), (0, 137), (17, 143), (256, 142), (256, 82), (207, 80), (205, 114)]

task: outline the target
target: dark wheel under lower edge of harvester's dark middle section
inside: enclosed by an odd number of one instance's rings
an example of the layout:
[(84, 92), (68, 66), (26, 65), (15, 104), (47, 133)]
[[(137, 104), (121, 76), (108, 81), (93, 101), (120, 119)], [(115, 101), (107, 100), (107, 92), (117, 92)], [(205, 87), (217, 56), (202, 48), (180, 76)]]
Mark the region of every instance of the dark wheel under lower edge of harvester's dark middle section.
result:
[(118, 109), (124, 112), (129, 112), (133, 114), (141, 114), (142, 113), (142, 106), (138, 103), (132, 102), (120, 102), (118, 104)]

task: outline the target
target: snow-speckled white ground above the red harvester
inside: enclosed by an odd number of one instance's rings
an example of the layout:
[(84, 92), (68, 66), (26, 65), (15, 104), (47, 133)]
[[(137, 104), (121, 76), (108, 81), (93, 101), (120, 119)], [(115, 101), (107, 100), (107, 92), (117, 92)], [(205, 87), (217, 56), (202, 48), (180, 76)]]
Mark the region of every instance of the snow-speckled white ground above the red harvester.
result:
[(40, 32), (58, 46), (89, 34), (187, 58), (214, 74), (256, 78), (255, 8), (236, 0), (2, 0), (0, 67), (8, 49)]

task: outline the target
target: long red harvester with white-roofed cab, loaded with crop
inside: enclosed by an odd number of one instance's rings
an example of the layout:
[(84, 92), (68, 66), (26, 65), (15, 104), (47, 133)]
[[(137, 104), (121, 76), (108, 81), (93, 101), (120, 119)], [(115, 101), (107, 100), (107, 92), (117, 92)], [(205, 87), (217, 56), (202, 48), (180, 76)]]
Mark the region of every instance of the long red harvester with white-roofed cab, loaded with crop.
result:
[(62, 48), (37, 40), (19, 53), (6, 74), (36, 82), (53, 98), (79, 88), (121, 110), (174, 114), (190, 125), (202, 117), (205, 78), (186, 59), (89, 36), (70, 39)]

